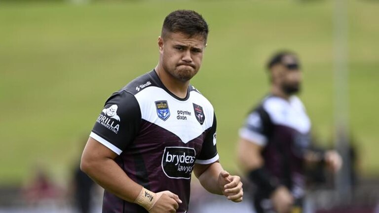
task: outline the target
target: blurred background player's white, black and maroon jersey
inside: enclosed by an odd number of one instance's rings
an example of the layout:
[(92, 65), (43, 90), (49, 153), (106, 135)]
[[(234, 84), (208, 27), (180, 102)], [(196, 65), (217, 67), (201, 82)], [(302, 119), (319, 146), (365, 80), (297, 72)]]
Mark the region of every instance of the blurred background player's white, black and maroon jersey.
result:
[[(310, 146), (310, 120), (300, 99), (267, 96), (247, 117), (241, 138), (264, 146), (265, 169), (301, 202), (304, 196), (304, 154)], [(257, 186), (254, 203), (258, 212), (270, 209), (269, 195)], [(262, 208), (262, 209), (261, 209)]]

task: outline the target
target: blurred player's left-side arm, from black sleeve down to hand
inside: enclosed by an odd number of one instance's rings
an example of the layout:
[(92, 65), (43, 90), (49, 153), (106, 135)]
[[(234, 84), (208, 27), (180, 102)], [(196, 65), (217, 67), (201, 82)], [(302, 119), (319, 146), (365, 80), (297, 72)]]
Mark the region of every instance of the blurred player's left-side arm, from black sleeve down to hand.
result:
[(248, 179), (270, 197), (274, 209), (278, 213), (286, 213), (294, 203), (294, 198), (287, 187), (280, 185), (279, 181), (269, 174), (262, 157), (268, 131), (268, 116), (263, 111), (252, 112), (239, 132), (238, 160)]

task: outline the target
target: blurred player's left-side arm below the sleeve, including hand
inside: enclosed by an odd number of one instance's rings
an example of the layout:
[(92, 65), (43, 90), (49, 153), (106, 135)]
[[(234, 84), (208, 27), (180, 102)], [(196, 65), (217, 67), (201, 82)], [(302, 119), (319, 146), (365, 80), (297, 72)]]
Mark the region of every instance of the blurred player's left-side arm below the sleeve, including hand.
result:
[(287, 212), (294, 202), (287, 187), (271, 177), (265, 169), (262, 157), (263, 145), (257, 142), (240, 138), (238, 143), (238, 160), (250, 181), (263, 188), (270, 196), (275, 210), (279, 213)]

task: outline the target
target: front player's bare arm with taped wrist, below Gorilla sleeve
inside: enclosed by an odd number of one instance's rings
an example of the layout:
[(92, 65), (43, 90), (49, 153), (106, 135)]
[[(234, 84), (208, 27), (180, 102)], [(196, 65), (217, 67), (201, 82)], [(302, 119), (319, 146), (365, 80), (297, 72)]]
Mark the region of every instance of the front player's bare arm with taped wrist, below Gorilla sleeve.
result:
[[(150, 213), (176, 212), (178, 203), (182, 203), (177, 195), (169, 191), (155, 194), (144, 189), (114, 162), (116, 156), (111, 149), (89, 138), (83, 150), (80, 169), (107, 191), (123, 200), (143, 206)], [(146, 199), (145, 192), (150, 193), (153, 199)]]

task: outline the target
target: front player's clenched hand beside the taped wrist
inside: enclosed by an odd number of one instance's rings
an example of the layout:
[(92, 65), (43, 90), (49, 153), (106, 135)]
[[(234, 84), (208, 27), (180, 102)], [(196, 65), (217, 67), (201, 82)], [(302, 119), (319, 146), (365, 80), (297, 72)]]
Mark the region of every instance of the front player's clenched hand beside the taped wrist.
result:
[(176, 213), (179, 204), (182, 203), (178, 195), (170, 191), (161, 191), (156, 193), (155, 196), (157, 201), (149, 213)]

